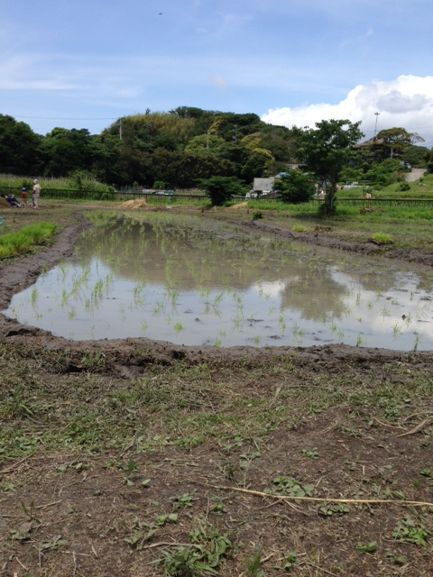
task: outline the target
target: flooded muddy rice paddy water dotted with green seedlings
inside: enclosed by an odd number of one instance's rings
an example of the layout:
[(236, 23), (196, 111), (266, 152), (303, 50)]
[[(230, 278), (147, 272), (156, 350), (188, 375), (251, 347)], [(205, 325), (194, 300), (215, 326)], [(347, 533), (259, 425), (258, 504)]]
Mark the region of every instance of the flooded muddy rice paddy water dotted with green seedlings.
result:
[(179, 215), (92, 218), (75, 256), (15, 295), (6, 316), (72, 340), (433, 348), (428, 270)]

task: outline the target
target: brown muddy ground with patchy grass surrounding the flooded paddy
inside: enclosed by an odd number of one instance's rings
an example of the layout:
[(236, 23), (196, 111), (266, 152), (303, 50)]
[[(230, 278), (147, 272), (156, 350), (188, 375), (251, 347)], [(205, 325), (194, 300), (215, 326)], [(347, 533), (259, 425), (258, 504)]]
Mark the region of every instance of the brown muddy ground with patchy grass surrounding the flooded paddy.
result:
[[(0, 309), (82, 210), (0, 261)], [(0, 315), (0, 574), (431, 575), (431, 373), (429, 352), (72, 342)]]

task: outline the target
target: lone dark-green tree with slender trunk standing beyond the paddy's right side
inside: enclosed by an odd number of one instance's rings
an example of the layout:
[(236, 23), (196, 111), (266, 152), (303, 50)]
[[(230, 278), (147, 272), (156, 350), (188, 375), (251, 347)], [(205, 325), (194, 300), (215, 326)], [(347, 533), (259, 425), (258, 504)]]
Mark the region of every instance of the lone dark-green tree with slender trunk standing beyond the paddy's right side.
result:
[(364, 134), (360, 122), (349, 120), (322, 120), (316, 128), (294, 128), (299, 161), (312, 172), (326, 188), (325, 202), (320, 206), (325, 214), (335, 212), (336, 186), (342, 169), (354, 157), (353, 147)]

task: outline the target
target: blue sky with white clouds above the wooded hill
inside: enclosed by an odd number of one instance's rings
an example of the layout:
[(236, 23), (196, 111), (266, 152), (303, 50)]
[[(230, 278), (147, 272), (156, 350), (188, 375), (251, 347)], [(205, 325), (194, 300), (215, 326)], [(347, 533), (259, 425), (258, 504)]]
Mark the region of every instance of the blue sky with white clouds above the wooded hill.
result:
[[(433, 147), (432, 0), (0, 0), (0, 114), (100, 133), (180, 105)], [(379, 114), (376, 114), (379, 113)]]

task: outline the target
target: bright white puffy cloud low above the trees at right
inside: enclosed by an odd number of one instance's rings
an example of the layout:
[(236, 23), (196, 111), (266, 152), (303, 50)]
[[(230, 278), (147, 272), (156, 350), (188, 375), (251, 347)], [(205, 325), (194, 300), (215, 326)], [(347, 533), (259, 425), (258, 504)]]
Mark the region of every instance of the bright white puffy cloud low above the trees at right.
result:
[[(305, 104), (270, 109), (264, 122), (283, 126), (310, 126), (321, 120), (347, 118), (362, 121), (361, 129), (371, 138), (377, 119), (377, 131), (401, 126), (433, 141), (433, 77), (400, 76), (392, 81), (373, 81), (359, 85), (336, 105)], [(378, 116), (375, 113), (379, 113)]]

